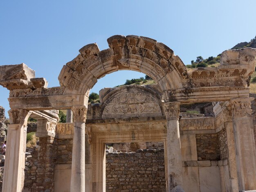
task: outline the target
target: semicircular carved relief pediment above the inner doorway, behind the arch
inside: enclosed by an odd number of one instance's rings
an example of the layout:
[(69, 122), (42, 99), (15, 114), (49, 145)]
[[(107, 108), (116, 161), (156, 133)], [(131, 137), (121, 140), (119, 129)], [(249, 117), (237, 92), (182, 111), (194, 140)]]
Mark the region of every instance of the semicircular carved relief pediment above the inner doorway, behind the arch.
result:
[(105, 106), (102, 118), (157, 117), (163, 114), (162, 94), (141, 85), (102, 89), (100, 100)]

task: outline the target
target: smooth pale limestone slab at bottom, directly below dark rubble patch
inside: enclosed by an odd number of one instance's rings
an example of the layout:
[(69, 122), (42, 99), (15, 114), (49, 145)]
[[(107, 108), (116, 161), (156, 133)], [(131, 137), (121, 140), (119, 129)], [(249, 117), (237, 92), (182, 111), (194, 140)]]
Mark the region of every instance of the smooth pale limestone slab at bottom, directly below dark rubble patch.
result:
[(218, 166), (198, 167), (200, 192), (220, 192), (220, 174)]

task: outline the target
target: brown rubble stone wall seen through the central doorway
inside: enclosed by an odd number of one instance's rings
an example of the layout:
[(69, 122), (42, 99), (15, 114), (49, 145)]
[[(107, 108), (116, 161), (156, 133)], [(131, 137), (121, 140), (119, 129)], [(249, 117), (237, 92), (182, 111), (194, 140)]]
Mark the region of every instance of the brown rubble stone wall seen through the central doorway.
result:
[(106, 154), (106, 192), (166, 191), (164, 149)]

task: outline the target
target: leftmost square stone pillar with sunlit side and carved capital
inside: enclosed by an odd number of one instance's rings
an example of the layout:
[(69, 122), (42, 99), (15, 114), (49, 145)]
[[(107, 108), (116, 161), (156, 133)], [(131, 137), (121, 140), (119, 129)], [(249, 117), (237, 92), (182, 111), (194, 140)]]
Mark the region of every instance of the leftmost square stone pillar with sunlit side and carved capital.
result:
[(21, 192), (24, 185), (25, 152), (27, 138), (27, 118), (24, 109), (9, 110), (4, 178), (2, 192)]

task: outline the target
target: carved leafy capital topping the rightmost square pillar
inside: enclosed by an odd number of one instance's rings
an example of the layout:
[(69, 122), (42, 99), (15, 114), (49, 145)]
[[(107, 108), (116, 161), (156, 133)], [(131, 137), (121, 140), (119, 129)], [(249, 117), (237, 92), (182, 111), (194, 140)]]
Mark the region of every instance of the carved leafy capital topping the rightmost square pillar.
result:
[(251, 101), (254, 98), (236, 98), (230, 100), (231, 104), (231, 112), (233, 116), (244, 116), (244, 115), (251, 115)]

